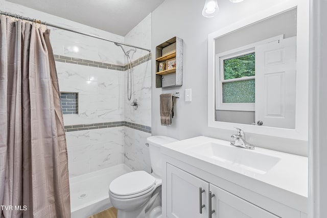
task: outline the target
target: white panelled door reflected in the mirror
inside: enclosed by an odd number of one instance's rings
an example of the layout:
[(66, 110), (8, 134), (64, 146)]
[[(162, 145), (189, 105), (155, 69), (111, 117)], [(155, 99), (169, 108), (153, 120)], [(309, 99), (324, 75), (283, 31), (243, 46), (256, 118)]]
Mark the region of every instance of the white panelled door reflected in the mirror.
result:
[(255, 124), (295, 129), (296, 37), (255, 46), (255, 72)]

